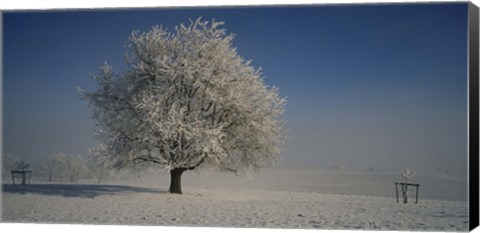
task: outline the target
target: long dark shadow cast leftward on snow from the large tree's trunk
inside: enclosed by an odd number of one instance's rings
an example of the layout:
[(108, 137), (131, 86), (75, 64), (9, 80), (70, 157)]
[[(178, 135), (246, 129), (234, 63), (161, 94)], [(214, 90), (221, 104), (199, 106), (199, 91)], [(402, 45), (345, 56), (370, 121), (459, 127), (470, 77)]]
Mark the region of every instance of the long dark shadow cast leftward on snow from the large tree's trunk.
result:
[(167, 193), (167, 191), (132, 187), (125, 185), (94, 185), (94, 184), (3, 184), (3, 193), (40, 194), (47, 196), (95, 198), (101, 195), (118, 195), (126, 193)]

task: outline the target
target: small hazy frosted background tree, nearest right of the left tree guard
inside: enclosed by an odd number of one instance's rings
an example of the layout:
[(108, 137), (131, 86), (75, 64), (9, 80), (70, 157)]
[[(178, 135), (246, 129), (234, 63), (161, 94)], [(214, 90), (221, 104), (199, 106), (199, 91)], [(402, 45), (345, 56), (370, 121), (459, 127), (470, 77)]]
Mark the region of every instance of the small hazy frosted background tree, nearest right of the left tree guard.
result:
[(37, 166), (37, 171), (48, 176), (48, 181), (63, 177), (67, 166), (66, 155), (62, 152), (49, 155)]

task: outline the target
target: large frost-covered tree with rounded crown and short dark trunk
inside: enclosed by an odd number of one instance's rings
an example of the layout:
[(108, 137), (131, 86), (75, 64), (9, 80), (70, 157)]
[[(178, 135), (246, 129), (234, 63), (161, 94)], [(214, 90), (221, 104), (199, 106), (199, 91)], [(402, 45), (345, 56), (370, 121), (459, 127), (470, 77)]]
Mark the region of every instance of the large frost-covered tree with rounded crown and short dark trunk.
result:
[(80, 90), (99, 127), (92, 154), (114, 168), (165, 168), (171, 193), (182, 192), (186, 170), (248, 174), (278, 161), (286, 99), (238, 55), (222, 25), (198, 19), (174, 32), (133, 32), (128, 68), (105, 64), (97, 90)]

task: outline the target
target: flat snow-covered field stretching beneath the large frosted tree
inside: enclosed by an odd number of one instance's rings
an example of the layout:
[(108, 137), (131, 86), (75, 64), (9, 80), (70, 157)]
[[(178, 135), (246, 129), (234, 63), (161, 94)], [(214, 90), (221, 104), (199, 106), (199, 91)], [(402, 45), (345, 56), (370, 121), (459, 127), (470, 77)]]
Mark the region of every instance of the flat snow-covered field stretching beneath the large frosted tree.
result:
[[(467, 179), (416, 175), (419, 203), (397, 203), (399, 174), (265, 169), (255, 179), (186, 172), (183, 195), (169, 175), (102, 184), (4, 183), (3, 222), (249, 228), (467, 231)], [(414, 194), (413, 190), (411, 194)]]

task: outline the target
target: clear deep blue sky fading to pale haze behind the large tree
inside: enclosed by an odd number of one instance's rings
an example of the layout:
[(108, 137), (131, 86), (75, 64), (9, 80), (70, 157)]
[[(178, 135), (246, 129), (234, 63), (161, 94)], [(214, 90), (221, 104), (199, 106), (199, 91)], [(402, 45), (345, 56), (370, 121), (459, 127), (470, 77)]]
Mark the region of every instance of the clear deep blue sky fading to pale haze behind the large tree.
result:
[(124, 68), (132, 30), (226, 22), (288, 96), (285, 164), (399, 171), (467, 166), (467, 4), (3, 14), (3, 154), (34, 163), (98, 142), (77, 86)]

